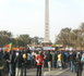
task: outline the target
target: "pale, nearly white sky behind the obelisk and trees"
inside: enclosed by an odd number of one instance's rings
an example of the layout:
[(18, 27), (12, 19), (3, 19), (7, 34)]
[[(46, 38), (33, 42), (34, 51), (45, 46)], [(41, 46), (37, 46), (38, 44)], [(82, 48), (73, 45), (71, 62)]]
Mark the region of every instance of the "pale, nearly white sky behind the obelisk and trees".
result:
[[(84, 22), (84, 0), (49, 0), (50, 40), (62, 28), (75, 29)], [(44, 37), (45, 0), (0, 0), (0, 30), (13, 36)]]

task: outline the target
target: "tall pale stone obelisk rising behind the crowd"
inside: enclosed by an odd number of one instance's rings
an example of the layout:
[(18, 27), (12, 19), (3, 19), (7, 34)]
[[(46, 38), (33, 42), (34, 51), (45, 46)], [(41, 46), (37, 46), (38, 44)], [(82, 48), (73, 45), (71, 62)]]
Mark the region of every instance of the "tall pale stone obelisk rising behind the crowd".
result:
[(50, 43), (49, 37), (49, 0), (45, 0), (45, 43)]

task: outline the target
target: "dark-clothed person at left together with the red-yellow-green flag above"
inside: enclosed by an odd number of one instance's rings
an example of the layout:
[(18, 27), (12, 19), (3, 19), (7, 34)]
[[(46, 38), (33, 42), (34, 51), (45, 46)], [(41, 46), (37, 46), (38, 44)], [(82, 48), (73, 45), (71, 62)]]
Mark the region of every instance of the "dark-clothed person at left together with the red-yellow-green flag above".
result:
[(7, 64), (8, 64), (8, 72), (9, 76), (13, 76), (13, 51), (12, 51), (12, 43), (5, 45), (5, 51), (7, 51)]

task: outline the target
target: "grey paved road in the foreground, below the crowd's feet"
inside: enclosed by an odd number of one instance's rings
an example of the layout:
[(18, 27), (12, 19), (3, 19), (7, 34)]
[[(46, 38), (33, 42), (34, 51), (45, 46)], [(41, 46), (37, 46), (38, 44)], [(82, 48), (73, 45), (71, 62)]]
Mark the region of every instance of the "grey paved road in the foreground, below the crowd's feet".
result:
[[(36, 76), (36, 68), (27, 69), (26, 74), (27, 76)], [(48, 72), (48, 68), (43, 68), (43, 76), (76, 76), (76, 74), (72, 73), (69, 68), (65, 69), (52, 68), (50, 72)]]

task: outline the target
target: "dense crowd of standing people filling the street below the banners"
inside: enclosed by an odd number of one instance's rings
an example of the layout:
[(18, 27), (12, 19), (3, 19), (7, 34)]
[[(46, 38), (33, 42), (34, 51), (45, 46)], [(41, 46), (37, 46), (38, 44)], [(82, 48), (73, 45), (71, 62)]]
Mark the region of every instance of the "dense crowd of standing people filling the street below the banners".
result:
[(41, 67), (64, 69), (82, 76), (84, 68), (84, 52), (68, 50), (11, 50), (10, 52), (0, 50), (0, 76), (26, 76), (27, 68), (35, 68), (36, 76), (41, 76)]

